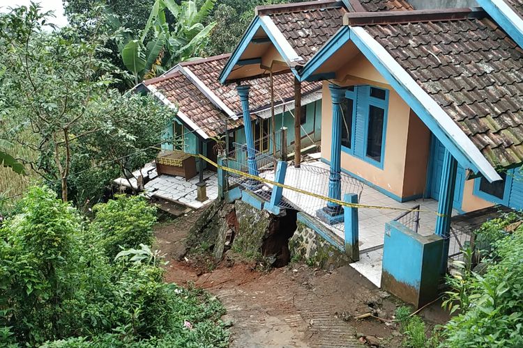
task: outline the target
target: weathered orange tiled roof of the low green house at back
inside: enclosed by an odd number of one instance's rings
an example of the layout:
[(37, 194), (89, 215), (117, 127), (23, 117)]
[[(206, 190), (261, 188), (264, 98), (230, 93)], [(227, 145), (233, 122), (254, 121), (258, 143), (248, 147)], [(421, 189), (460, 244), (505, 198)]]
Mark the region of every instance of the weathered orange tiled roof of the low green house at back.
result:
[[(238, 118), (242, 109), (235, 86), (222, 86), (218, 81), (218, 74), (228, 58), (229, 54), (222, 54), (183, 62), (142, 84), (167, 106), (177, 107), (177, 116), (186, 126), (203, 139), (209, 139), (225, 134), (225, 120), (228, 129), (243, 125)], [(255, 79), (249, 84), (251, 116), (256, 117), (257, 110), (270, 106), (270, 80)], [(275, 75), (274, 86), (275, 106), (294, 99), (292, 74)], [(302, 93), (308, 95), (319, 88), (321, 82), (307, 82), (302, 84)]]

